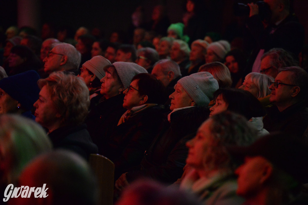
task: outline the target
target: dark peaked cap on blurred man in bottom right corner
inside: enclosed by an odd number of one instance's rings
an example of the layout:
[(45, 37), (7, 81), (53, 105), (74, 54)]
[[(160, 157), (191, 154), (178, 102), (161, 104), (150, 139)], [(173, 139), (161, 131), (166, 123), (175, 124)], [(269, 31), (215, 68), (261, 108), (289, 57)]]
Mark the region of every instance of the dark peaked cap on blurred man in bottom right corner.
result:
[(245, 156), (262, 156), (299, 182), (307, 182), (307, 148), (295, 136), (274, 132), (248, 147), (232, 147), (228, 150), (240, 159)]

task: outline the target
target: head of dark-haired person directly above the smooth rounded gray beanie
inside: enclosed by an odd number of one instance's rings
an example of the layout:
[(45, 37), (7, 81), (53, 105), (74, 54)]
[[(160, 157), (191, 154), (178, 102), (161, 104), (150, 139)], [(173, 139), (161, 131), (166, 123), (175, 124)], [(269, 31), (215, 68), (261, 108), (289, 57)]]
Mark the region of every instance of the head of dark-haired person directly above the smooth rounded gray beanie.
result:
[(133, 45), (123, 44), (119, 47), (115, 56), (116, 62), (135, 62), (136, 61), (136, 49)]

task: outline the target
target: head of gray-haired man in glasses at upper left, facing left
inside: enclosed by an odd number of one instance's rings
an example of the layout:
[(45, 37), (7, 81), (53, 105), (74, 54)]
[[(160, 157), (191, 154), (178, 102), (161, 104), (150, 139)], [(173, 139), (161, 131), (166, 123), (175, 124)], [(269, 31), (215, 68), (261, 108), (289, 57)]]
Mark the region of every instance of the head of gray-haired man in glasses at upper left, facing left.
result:
[(59, 43), (44, 58), (44, 72), (66, 71), (78, 74), (81, 55), (75, 47), (68, 43)]

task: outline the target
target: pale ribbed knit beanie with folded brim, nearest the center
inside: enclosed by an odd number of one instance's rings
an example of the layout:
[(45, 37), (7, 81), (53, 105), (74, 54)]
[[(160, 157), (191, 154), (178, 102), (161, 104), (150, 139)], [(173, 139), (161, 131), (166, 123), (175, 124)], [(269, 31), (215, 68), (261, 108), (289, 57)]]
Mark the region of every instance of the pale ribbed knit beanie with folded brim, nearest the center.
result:
[(209, 72), (193, 73), (177, 81), (197, 105), (208, 105), (219, 88), (217, 80)]

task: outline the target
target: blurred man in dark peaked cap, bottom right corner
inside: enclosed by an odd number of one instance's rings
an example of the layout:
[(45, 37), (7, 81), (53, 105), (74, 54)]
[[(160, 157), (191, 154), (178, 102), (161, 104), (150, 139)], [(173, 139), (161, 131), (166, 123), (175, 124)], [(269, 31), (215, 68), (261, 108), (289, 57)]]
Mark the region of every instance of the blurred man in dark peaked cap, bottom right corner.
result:
[(294, 203), (296, 197), (301, 198), (301, 183), (307, 180), (308, 153), (303, 144), (289, 135), (275, 133), (249, 147), (229, 150), (234, 158), (245, 158), (235, 170), (236, 193), (246, 199), (244, 204), (306, 204)]

